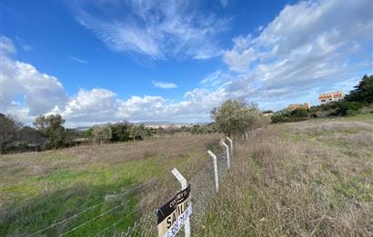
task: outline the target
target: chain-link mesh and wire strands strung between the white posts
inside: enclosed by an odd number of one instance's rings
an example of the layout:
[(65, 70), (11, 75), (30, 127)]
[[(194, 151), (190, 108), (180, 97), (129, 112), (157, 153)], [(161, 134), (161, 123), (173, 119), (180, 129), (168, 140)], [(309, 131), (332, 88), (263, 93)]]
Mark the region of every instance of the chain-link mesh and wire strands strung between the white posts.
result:
[[(234, 138), (235, 145), (243, 143), (245, 140), (252, 139), (256, 136), (256, 134), (260, 131), (259, 129), (248, 131), (246, 133), (242, 133), (242, 136), (238, 136)], [(229, 144), (229, 142), (226, 143)], [(228, 145), (229, 146), (229, 145)], [(233, 149), (234, 150), (234, 149)], [(221, 149), (219, 153), (217, 153), (217, 176), (219, 182), (223, 182), (228, 173), (228, 165), (227, 165), (227, 152), (232, 155), (231, 149), (227, 151), (226, 149)], [(233, 152), (234, 154), (234, 152)], [(231, 163), (234, 163), (234, 155), (231, 156)], [(204, 216), (208, 211), (208, 207), (210, 202), (213, 198), (217, 195), (216, 187), (215, 187), (215, 173), (212, 161), (206, 163), (188, 180), (188, 183), (191, 185), (191, 202), (193, 205), (193, 214), (190, 216), (190, 224), (191, 230), (196, 230), (204, 220)], [(136, 186), (130, 189), (127, 189), (123, 193), (116, 194), (116, 196), (109, 197), (106, 199), (105, 202), (97, 203), (86, 210), (78, 212), (70, 217), (67, 217), (64, 220), (57, 221), (54, 224), (51, 224), (37, 232), (31, 233), (26, 236), (40, 236), (45, 234), (46, 231), (56, 228), (58, 225), (66, 224), (66, 222), (71, 222), (72, 220), (76, 219), (80, 215), (85, 214), (86, 212), (91, 212), (96, 208), (102, 207), (110, 202), (118, 202), (120, 198), (124, 198), (127, 196), (128, 193), (132, 194), (132, 198), (142, 198), (142, 193), (151, 193), (155, 192), (156, 186)], [(134, 194), (136, 192), (136, 194)], [(153, 212), (144, 212), (141, 205), (136, 206), (135, 208), (129, 207), (129, 202), (131, 199), (125, 199), (120, 201), (119, 204), (111, 206), (105, 212), (101, 212), (97, 214), (95, 217), (85, 221), (78, 223), (74, 228), (67, 230), (59, 234), (58, 236), (70, 236), (74, 235), (74, 233), (79, 230), (80, 228), (88, 225), (91, 222), (95, 222), (100, 218), (103, 218), (105, 215), (109, 215), (111, 212), (116, 211), (119, 208), (124, 208), (125, 212), (122, 216), (118, 217), (116, 221), (112, 222), (111, 224), (104, 226), (101, 232), (97, 232), (94, 236), (156, 236), (157, 235), (157, 227), (156, 227), (156, 208), (163, 205), (165, 202), (170, 200), (172, 196), (176, 193), (176, 190), (168, 190), (163, 196), (159, 197), (156, 200), (156, 206), (154, 206)], [(139, 218), (136, 222), (133, 223), (132, 226), (128, 227), (126, 230), (123, 230), (123, 227), (120, 227), (121, 222), (126, 222), (128, 218), (130, 218), (133, 214), (140, 213)], [(141, 214), (142, 213), (142, 214)], [(183, 234), (184, 229), (182, 229), (178, 234)]]

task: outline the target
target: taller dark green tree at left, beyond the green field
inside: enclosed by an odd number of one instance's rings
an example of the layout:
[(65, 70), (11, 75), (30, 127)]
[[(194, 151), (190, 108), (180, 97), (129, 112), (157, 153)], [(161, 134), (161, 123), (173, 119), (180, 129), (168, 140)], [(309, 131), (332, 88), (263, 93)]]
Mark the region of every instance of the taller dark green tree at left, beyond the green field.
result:
[(48, 141), (47, 145), (53, 148), (65, 144), (65, 120), (60, 114), (41, 115), (36, 117), (34, 125), (38, 131), (43, 133)]

